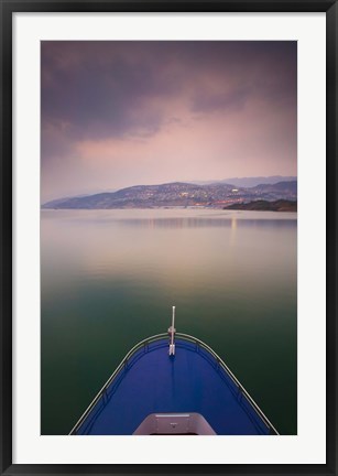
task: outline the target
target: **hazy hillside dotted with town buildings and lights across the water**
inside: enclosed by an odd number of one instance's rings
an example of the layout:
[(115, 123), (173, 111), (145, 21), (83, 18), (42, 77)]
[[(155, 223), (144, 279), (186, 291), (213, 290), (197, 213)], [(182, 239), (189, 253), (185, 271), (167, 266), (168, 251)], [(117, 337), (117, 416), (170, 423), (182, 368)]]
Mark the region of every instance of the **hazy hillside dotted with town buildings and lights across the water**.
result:
[(255, 187), (236, 187), (233, 184), (216, 183), (197, 185), (174, 182), (161, 185), (135, 185), (117, 192), (59, 198), (48, 202), (42, 208), (108, 209), (108, 208), (154, 208), (203, 206), (222, 208), (233, 203), (252, 199), (296, 199), (297, 183), (280, 182)]

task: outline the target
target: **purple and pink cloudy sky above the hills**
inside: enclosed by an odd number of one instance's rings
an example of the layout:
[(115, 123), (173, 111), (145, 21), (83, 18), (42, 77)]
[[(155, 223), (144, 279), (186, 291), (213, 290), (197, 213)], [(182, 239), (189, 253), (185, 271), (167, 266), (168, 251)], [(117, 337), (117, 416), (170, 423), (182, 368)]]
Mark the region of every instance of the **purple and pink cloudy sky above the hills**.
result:
[(296, 175), (296, 42), (42, 42), (42, 202)]

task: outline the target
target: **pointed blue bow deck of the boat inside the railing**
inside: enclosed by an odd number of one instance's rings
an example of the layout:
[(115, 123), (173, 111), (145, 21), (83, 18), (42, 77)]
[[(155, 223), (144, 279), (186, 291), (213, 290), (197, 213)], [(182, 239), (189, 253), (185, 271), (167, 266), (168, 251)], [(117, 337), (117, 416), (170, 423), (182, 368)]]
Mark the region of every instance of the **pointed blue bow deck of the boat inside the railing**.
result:
[(200, 413), (217, 434), (275, 434), (221, 360), (177, 336), (144, 344), (122, 363), (72, 434), (131, 435), (151, 413)]

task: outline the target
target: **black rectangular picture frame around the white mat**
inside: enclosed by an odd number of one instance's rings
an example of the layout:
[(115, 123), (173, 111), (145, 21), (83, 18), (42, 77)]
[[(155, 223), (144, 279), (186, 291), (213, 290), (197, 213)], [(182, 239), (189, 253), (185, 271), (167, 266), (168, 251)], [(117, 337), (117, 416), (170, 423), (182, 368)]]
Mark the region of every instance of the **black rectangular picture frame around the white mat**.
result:
[[(337, 475), (337, 24), (335, 0), (0, 0), (1, 31), (1, 428), (2, 475), (279, 474)], [(327, 445), (326, 464), (276, 465), (14, 465), (12, 464), (12, 14), (15, 12), (325, 12), (327, 108)]]

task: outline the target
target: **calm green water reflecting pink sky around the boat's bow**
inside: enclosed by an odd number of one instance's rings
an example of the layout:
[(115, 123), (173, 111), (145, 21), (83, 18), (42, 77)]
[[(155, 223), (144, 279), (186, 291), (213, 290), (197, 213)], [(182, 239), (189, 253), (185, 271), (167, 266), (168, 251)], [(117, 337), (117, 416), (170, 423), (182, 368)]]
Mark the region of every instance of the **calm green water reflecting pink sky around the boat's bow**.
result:
[(296, 214), (43, 210), (42, 434), (67, 434), (128, 350), (176, 328), (295, 434)]

